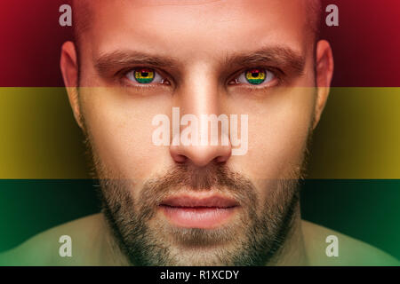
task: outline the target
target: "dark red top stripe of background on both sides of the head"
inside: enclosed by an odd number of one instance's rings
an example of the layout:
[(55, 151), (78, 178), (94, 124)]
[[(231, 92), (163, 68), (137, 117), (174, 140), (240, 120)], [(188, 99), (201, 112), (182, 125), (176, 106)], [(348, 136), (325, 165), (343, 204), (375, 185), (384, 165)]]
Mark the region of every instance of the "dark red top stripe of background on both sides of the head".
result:
[[(323, 28), (335, 56), (333, 86), (398, 87), (400, 1), (324, 0), (337, 4), (340, 27)], [(0, 2), (0, 86), (62, 86), (60, 45), (72, 38), (59, 25), (67, 0)]]

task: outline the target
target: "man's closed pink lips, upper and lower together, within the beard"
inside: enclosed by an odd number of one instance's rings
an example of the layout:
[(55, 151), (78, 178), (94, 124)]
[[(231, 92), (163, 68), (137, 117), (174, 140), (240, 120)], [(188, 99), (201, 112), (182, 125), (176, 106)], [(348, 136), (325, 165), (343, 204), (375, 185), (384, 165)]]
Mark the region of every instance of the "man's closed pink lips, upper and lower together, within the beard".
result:
[(238, 207), (235, 200), (210, 193), (172, 196), (160, 204), (172, 225), (200, 229), (212, 229), (227, 223)]

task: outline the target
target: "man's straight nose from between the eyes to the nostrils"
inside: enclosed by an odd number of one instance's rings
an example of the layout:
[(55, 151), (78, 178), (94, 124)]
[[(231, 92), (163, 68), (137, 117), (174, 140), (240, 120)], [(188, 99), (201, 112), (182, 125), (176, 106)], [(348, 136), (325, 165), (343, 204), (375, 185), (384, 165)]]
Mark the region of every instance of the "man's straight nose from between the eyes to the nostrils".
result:
[[(219, 91), (218, 75), (212, 72), (212, 67), (198, 64), (188, 71), (174, 103), (180, 112), (180, 131), (172, 134), (175, 137), (172, 137), (174, 142), (170, 146), (170, 153), (175, 162), (190, 162), (204, 167), (213, 161), (228, 161), (231, 155), (228, 131), (226, 127), (221, 131), (221, 123), (226, 124), (228, 120), (211, 122), (211, 119), (218, 118), (222, 111), (222, 96)], [(218, 138), (215, 138), (215, 134)]]

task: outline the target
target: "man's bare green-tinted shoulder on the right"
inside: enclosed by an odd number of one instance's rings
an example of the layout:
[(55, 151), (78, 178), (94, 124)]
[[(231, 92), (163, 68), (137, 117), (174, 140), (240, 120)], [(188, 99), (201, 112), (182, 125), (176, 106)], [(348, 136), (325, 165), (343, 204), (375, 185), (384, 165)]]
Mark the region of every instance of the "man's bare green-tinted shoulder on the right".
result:
[[(324, 226), (303, 220), (302, 231), (311, 265), (379, 266), (400, 264), (395, 257), (379, 248), (374, 248), (364, 241), (358, 241)], [(333, 244), (333, 242), (336, 243)], [(327, 256), (326, 249), (330, 245), (337, 246), (338, 256)]]

